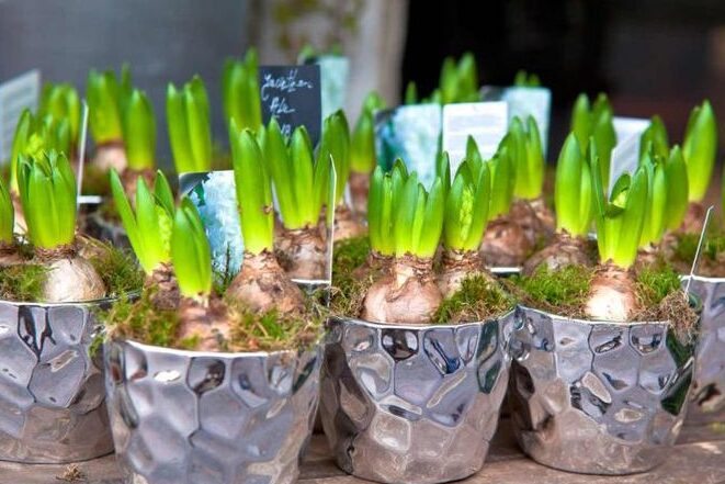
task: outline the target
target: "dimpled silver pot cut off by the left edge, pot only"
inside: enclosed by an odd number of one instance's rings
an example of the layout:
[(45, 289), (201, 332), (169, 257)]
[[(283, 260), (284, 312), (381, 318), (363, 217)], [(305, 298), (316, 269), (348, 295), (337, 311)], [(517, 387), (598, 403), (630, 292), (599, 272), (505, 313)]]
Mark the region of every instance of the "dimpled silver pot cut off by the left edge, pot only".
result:
[(0, 459), (82, 461), (113, 451), (95, 311), (0, 302)]

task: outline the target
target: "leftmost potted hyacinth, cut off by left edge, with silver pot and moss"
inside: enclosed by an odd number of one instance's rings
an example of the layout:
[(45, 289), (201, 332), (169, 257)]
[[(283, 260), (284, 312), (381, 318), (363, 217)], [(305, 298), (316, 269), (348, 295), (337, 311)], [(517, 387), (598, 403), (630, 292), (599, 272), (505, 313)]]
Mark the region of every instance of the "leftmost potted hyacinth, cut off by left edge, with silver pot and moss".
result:
[(0, 185), (0, 459), (63, 463), (113, 450), (97, 314), (140, 285), (123, 252), (76, 230), (76, 179), (65, 155), (22, 155), (18, 187), (27, 232)]

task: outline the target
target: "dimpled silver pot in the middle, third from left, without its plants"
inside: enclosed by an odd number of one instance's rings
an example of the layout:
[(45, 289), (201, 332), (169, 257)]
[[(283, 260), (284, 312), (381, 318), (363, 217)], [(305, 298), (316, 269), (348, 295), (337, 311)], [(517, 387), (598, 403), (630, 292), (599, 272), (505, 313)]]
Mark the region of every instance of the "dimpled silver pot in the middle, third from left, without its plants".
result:
[(512, 313), (456, 326), (328, 323), (320, 413), (338, 465), (385, 483), (484, 464), (509, 378)]

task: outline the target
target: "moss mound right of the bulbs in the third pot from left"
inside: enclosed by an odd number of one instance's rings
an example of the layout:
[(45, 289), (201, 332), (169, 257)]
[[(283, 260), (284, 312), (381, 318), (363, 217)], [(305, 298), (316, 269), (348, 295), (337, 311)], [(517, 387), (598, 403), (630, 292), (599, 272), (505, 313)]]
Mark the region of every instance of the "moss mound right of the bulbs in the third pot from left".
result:
[(464, 279), (461, 289), (443, 300), (433, 323), (471, 323), (499, 316), (513, 307), (513, 299), (490, 278), (473, 274)]

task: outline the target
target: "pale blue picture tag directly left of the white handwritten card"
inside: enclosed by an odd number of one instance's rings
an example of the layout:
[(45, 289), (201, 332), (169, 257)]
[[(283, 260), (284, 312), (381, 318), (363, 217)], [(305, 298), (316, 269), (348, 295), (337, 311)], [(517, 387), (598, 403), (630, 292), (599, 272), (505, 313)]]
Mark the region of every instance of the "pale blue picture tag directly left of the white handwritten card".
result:
[(410, 171), (430, 188), (441, 137), (441, 105), (410, 104), (375, 113), (375, 151), (385, 170), (403, 158)]

